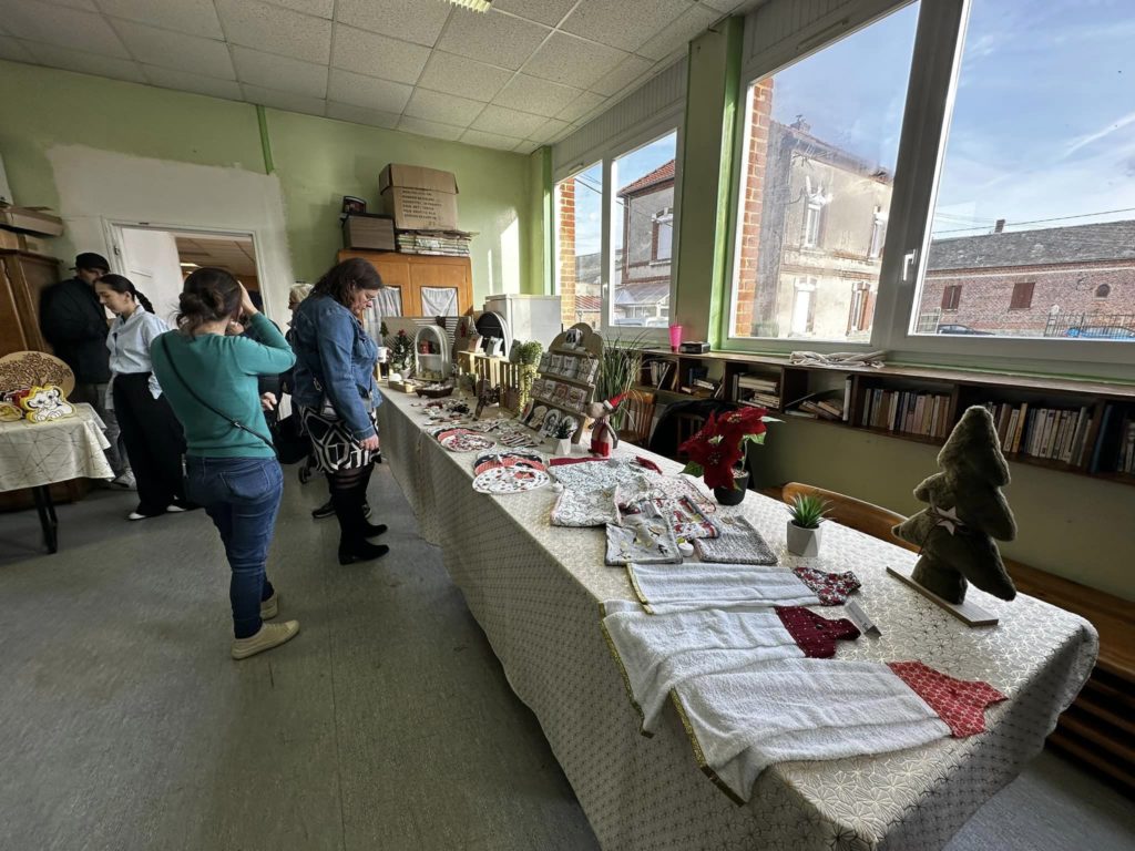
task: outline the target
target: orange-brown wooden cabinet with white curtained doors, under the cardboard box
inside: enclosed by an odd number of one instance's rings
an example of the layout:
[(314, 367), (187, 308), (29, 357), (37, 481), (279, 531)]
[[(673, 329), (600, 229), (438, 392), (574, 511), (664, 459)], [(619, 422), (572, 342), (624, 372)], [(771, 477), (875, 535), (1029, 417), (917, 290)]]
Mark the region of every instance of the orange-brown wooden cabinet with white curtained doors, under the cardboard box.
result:
[[(339, 252), (339, 261), (350, 258), (362, 258), (378, 270), (382, 283), (397, 292), (393, 301), (401, 304), (403, 317), (462, 315), (472, 310), (473, 275), (469, 258), (423, 256), (393, 251)], [(387, 314), (395, 315), (393, 310), (388, 310)]]

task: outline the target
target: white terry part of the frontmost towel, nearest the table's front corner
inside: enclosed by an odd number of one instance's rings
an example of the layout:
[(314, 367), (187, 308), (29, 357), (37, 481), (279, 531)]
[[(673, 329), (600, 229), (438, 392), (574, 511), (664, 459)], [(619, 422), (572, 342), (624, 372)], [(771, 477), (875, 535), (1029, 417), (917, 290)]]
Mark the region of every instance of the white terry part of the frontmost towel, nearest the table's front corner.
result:
[(779, 659), (691, 676), (674, 691), (703, 768), (738, 801), (774, 762), (886, 753), (950, 735), (878, 662)]

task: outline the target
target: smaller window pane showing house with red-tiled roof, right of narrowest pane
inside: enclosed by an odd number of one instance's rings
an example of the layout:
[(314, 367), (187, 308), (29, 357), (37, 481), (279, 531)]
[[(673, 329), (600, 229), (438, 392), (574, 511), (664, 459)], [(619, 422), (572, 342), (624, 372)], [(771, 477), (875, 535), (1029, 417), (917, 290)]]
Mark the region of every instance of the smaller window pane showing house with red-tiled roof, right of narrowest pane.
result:
[(613, 325), (670, 325), (676, 150), (678, 134), (670, 133), (612, 163)]

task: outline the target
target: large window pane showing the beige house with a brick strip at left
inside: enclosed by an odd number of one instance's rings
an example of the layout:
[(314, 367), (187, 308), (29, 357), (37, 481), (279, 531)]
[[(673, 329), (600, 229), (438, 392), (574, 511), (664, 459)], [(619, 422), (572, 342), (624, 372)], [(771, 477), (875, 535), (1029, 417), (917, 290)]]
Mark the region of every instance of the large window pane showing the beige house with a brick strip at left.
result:
[(917, 22), (903, 7), (749, 90), (731, 336), (871, 338)]

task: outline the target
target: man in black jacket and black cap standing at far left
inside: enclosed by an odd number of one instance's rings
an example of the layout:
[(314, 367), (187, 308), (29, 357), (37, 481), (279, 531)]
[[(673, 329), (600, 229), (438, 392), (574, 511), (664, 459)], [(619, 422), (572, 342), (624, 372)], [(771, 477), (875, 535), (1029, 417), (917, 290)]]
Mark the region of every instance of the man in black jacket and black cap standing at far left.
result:
[(43, 290), (40, 300), (40, 327), (56, 355), (75, 373), (72, 402), (85, 402), (99, 412), (107, 424), (107, 461), (118, 477), (116, 485), (131, 487), (133, 474), (126, 461), (115, 412), (107, 408), (110, 382), (110, 351), (107, 348), (107, 311), (94, 292), (94, 281), (110, 271), (101, 254), (85, 252), (75, 258), (75, 277)]

